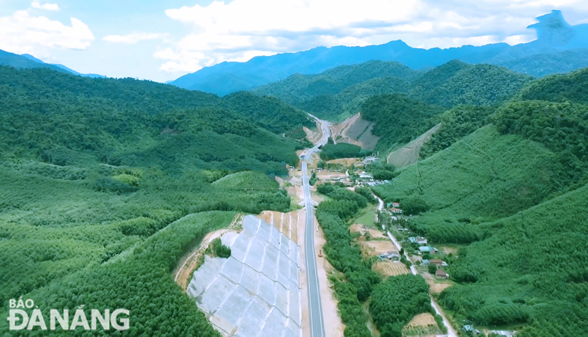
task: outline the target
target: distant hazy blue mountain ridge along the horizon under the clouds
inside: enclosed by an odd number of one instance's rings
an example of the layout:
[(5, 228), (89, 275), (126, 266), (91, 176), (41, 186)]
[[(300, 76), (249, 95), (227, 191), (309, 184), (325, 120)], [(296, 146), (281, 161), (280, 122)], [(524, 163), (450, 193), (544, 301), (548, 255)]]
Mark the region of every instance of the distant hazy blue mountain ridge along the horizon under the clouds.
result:
[[(318, 74), (336, 66), (371, 60), (397, 61), (413, 69), (422, 69), (457, 59), (470, 64), (502, 65), (532, 76), (569, 72), (588, 66), (588, 24), (570, 26), (560, 11), (539, 16), (537, 20), (539, 23), (528, 28), (536, 29), (538, 38), (527, 44), (420, 49), (398, 40), (365, 47), (318, 47), (303, 52), (257, 56), (248, 62), (222, 62), (181, 76), (170, 84), (226, 95), (279, 81), (296, 73)], [(554, 56), (570, 57), (573, 62), (560, 59), (560, 64), (554, 64), (550, 61)], [(544, 62), (535, 62), (534, 58)]]

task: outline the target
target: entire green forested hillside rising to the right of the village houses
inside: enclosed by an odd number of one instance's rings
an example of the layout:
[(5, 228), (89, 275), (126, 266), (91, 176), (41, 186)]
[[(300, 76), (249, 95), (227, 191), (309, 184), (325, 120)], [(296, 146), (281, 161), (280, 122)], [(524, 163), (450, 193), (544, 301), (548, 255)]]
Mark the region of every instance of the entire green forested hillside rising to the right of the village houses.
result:
[(433, 245), (464, 245), (446, 269), (457, 285), (440, 295), (457, 319), (518, 325), (524, 337), (588, 329), (587, 78), (546, 76), (500, 105), (421, 118), (443, 125), (426, 159), (375, 187), (418, 214), (408, 226)]

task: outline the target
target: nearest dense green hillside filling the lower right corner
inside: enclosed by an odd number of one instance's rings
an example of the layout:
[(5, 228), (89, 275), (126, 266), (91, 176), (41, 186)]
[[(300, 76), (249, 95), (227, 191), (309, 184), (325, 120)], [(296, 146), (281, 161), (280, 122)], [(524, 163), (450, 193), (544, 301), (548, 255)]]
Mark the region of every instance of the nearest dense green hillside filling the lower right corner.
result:
[(588, 329), (588, 186), (490, 223), (490, 238), (460, 252), (441, 297), (483, 325), (529, 323), (518, 336), (582, 336)]

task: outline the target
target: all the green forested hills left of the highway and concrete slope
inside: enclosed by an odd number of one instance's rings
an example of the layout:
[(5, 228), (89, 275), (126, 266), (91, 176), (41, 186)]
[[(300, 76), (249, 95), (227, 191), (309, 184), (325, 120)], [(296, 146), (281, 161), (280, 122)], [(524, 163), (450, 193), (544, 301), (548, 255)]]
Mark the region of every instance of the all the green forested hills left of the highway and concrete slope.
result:
[(306, 143), (282, 134), (314, 125), (246, 92), (8, 66), (0, 116), (0, 302), (126, 308), (133, 335), (219, 336), (170, 273), (236, 211), (290, 210), (273, 175)]

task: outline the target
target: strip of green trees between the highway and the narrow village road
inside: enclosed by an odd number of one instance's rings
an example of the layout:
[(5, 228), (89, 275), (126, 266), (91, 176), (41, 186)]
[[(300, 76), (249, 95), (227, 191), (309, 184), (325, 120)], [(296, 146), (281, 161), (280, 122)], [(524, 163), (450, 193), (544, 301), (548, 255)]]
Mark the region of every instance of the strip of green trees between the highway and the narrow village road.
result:
[[(358, 188), (362, 192), (366, 188)], [(430, 306), (429, 286), (420, 276), (391, 276), (382, 282), (372, 271), (373, 259), (365, 259), (349, 232), (348, 220), (365, 208), (368, 199), (349, 191), (341, 185), (324, 184), (318, 191), (334, 200), (323, 201), (316, 210), (316, 217), (325, 232), (326, 257), (342, 277), (331, 276), (338, 299), (346, 337), (372, 336), (363, 311), (363, 303), (369, 301), (369, 312), (379, 329), (380, 336), (400, 337), (402, 328), (417, 313), (435, 311)], [(370, 202), (376, 200), (373, 196)], [(408, 261), (405, 261), (409, 263)], [(440, 324), (439, 326), (443, 326)]]

